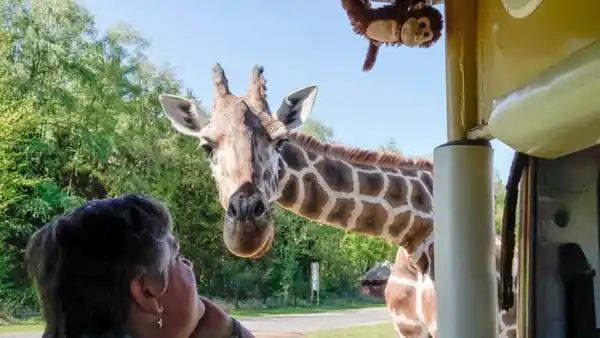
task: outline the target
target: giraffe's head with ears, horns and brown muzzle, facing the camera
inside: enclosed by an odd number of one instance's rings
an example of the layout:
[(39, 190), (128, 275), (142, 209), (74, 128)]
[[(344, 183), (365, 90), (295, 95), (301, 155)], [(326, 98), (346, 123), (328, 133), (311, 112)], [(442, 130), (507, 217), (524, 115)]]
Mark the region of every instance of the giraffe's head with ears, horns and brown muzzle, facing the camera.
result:
[(317, 87), (296, 90), (271, 113), (263, 68), (255, 66), (245, 96), (229, 90), (219, 64), (212, 70), (215, 97), (210, 121), (192, 101), (169, 94), (159, 100), (179, 132), (200, 139), (226, 210), (223, 240), (233, 254), (258, 258), (273, 244), (271, 205), (277, 199), (279, 159), (287, 131), (309, 117)]

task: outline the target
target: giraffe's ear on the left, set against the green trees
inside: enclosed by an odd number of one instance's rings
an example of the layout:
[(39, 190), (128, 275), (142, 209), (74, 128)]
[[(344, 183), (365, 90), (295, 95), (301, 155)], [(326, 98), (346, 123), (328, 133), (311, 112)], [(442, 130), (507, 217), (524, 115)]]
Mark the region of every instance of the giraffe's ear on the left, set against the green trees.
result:
[(198, 136), (208, 124), (204, 111), (192, 100), (170, 94), (161, 94), (158, 100), (173, 127), (183, 134)]

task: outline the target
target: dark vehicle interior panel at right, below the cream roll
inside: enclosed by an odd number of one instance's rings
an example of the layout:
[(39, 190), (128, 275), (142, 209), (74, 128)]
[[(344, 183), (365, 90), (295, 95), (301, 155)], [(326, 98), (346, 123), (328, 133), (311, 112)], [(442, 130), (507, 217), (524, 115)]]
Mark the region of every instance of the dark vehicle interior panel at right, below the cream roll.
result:
[[(530, 337), (597, 337), (600, 147), (531, 159), (521, 248), (531, 265)], [(526, 189), (528, 190), (528, 189)], [(596, 290), (596, 291), (595, 291)]]

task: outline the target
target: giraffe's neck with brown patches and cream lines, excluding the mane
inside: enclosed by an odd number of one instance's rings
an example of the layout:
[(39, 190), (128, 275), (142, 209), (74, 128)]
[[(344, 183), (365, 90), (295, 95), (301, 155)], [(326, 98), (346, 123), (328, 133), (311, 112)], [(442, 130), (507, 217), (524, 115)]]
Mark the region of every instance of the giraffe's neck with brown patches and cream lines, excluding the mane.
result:
[(391, 240), (409, 252), (432, 237), (430, 168), (359, 164), (307, 148), (294, 140), (283, 148), (277, 192), (283, 208), (321, 224)]

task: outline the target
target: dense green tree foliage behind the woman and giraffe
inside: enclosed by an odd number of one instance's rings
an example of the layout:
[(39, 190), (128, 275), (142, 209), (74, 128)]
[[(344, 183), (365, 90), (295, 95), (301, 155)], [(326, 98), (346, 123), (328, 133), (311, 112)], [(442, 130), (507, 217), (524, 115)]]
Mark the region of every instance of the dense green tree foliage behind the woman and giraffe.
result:
[[(264, 259), (233, 257), (206, 161), (158, 102), (159, 93), (194, 93), (148, 60), (148, 42), (124, 25), (97, 31), (74, 0), (7, 0), (0, 20), (0, 312), (36, 309), (23, 266), (33, 231), (87, 200), (127, 192), (165, 201), (199, 291), (236, 305), (303, 301), (313, 261), (321, 263), (322, 294), (354, 296), (362, 273), (393, 258), (388, 242), (282, 209)], [(333, 138), (316, 121), (304, 130)]]

